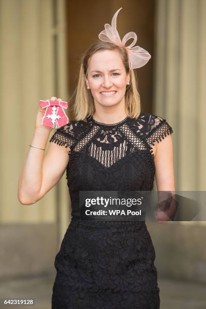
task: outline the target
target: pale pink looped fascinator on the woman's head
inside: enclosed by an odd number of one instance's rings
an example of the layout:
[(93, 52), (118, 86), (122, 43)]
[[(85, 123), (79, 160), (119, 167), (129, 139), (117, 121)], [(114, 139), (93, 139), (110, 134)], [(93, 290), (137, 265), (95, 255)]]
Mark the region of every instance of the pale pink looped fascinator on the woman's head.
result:
[[(117, 31), (117, 15), (121, 9), (122, 8), (120, 8), (113, 16), (112, 26), (105, 24), (105, 30), (101, 31), (98, 37), (101, 41), (123, 45), (128, 52), (130, 69), (141, 68), (149, 61), (151, 55), (140, 46), (133, 47), (137, 41), (137, 35), (135, 32), (128, 32), (121, 41)], [(133, 38), (133, 42), (129, 46), (125, 46), (125, 43), (131, 38)]]

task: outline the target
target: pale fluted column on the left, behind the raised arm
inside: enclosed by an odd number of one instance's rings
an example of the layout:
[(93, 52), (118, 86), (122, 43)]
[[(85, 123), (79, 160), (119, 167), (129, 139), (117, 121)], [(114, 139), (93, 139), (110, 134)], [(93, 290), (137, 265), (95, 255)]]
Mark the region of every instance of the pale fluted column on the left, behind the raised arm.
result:
[(39, 99), (68, 100), (64, 6), (64, 0), (0, 0), (0, 223), (56, 223), (58, 214), (60, 237), (69, 219), (66, 174), (32, 205), (19, 203), (17, 185)]

